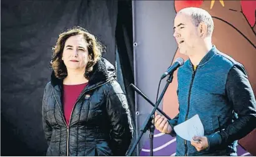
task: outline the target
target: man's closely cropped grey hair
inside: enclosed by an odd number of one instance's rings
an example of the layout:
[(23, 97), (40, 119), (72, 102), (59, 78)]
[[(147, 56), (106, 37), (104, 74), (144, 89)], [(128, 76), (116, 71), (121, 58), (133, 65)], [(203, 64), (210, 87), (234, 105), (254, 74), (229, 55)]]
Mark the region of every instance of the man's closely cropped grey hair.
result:
[(212, 32), (214, 31), (214, 21), (209, 12), (198, 7), (186, 7), (181, 9), (178, 14), (179, 13), (189, 14), (196, 27), (199, 26), (200, 22), (205, 22), (205, 24), (207, 24), (207, 36), (212, 36)]

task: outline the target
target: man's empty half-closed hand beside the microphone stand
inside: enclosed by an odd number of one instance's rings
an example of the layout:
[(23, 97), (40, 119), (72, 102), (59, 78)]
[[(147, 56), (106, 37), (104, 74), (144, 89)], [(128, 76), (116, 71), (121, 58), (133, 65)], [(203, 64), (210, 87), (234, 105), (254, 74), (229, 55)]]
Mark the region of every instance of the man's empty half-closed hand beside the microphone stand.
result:
[(162, 133), (170, 133), (172, 131), (172, 127), (170, 126), (167, 118), (157, 115), (155, 112), (155, 128)]

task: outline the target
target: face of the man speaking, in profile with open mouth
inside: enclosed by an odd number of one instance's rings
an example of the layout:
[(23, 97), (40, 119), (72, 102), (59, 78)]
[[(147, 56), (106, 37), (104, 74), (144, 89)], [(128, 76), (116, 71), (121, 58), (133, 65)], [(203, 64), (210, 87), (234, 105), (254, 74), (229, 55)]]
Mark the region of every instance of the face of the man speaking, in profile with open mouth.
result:
[(189, 55), (199, 42), (200, 36), (192, 18), (184, 13), (178, 13), (174, 19), (174, 37), (179, 46), (180, 53)]

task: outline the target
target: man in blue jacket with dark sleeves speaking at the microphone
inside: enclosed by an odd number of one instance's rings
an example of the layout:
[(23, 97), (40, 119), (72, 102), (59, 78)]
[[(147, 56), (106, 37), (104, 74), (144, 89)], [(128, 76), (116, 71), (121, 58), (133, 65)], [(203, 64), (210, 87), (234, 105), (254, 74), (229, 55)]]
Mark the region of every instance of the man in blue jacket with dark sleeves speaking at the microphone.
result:
[(237, 140), (254, 130), (256, 101), (242, 64), (222, 54), (211, 37), (214, 22), (207, 11), (189, 7), (174, 20), (180, 53), (188, 55), (178, 70), (179, 113), (172, 119), (155, 114), (155, 128), (176, 136), (174, 126), (198, 114), (204, 136), (177, 136), (177, 156), (236, 156)]

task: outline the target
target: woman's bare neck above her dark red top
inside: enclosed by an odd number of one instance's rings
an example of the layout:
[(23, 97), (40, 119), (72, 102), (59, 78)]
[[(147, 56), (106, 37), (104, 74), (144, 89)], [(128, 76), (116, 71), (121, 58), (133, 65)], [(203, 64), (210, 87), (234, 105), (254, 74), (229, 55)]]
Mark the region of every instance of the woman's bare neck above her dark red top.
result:
[(63, 80), (64, 85), (78, 85), (86, 82), (88, 80), (84, 77), (84, 70), (67, 70), (67, 77)]

